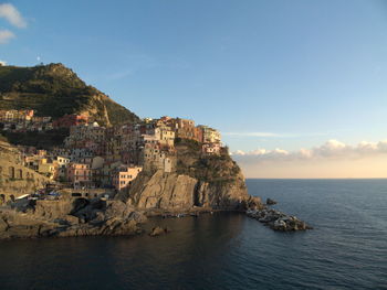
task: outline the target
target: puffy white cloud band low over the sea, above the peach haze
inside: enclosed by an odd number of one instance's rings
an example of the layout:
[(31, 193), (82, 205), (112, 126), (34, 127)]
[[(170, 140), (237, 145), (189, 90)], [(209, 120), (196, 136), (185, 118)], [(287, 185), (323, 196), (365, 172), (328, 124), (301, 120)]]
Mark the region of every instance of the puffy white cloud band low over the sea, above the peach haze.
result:
[(337, 140), (328, 140), (320, 147), (301, 149), (289, 152), (282, 149), (257, 149), (250, 152), (238, 150), (232, 153), (238, 160), (249, 163), (263, 161), (294, 161), (294, 160), (322, 160), (322, 159), (358, 159), (377, 154), (387, 154), (387, 140), (379, 142), (363, 141), (357, 146), (349, 146)]

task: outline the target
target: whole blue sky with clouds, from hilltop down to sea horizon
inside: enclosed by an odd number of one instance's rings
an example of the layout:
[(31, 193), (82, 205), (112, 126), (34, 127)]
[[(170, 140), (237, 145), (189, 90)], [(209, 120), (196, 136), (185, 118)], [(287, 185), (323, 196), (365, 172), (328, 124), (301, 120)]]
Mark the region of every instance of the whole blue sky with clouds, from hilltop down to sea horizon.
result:
[(248, 178), (387, 178), (387, 1), (0, 0), (0, 61), (215, 127)]

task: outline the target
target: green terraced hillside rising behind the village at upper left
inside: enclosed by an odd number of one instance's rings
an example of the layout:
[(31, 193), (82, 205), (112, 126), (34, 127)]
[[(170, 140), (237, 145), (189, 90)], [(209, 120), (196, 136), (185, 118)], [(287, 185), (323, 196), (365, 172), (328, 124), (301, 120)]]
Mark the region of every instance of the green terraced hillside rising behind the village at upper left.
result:
[(83, 114), (104, 126), (138, 120), (63, 64), (0, 66), (0, 109), (34, 109), (53, 118)]

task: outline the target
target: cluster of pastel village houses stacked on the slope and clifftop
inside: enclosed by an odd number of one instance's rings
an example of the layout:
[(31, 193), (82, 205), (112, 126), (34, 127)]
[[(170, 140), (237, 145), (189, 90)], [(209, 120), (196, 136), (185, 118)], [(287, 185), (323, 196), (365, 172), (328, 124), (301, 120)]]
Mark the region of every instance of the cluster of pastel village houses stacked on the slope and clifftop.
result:
[(74, 189), (122, 190), (142, 171), (172, 172), (179, 139), (199, 142), (202, 154), (219, 154), (222, 148), (217, 130), (181, 118), (147, 118), (105, 128), (71, 115), (54, 123), (70, 127), (64, 147), (50, 152), (23, 148), (24, 165)]

